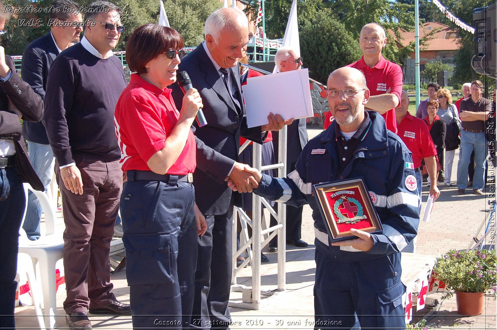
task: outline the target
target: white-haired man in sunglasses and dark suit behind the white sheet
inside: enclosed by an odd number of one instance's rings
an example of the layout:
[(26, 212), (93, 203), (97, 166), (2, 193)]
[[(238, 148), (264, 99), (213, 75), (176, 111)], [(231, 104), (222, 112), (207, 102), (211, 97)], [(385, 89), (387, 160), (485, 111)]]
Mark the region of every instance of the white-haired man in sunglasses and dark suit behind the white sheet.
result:
[[(278, 66), (280, 72), (298, 70), (302, 68), (302, 58), (300, 54), (291, 47), (281, 47), (276, 52), (274, 63)], [(295, 164), (299, 159), (302, 149), (309, 141), (307, 136), (306, 119), (295, 120), (292, 125), (288, 126), (286, 131), (286, 174), (295, 171)], [(279, 151), (279, 133), (273, 134), (274, 156), (278, 159)], [(278, 159), (278, 161), (281, 161)], [(278, 205), (273, 208), (278, 211)], [(286, 205), (286, 243), (295, 245), (299, 248), (308, 246), (307, 242), (301, 240), (302, 211), (304, 206), (294, 207)], [(276, 225), (276, 219), (271, 215), (270, 226)], [(278, 237), (275, 236), (269, 243), (269, 252), (278, 251)]]

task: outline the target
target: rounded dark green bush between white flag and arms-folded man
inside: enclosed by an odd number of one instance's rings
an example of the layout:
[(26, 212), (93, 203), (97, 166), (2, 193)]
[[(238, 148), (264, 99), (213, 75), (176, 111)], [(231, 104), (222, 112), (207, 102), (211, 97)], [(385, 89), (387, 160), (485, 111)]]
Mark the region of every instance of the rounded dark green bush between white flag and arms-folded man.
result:
[(358, 38), (354, 38), (326, 9), (318, 11), (313, 19), (302, 25), (300, 51), (310, 77), (325, 85), (331, 71), (361, 57)]

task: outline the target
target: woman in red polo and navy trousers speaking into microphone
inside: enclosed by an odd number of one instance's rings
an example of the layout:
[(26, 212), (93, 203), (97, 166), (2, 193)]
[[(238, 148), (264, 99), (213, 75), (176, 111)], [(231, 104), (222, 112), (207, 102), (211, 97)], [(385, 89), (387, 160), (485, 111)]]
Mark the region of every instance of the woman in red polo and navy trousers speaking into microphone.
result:
[[(158, 24), (136, 29), (126, 47), (130, 84), (115, 111), (133, 328), (180, 328), (193, 306), (197, 235), (207, 229), (194, 204), (195, 138), (190, 127), (202, 100), (194, 88), (181, 113), (166, 86), (176, 81), (184, 54), (176, 30)], [(158, 323), (157, 323), (158, 322)]]

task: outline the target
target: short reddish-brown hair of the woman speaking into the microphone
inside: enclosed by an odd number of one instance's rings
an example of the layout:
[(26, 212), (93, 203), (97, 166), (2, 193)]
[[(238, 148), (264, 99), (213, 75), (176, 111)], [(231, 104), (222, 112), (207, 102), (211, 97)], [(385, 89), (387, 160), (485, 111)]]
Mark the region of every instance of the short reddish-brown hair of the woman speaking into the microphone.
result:
[(126, 62), (129, 69), (146, 73), (147, 63), (168, 50), (180, 50), (183, 38), (178, 31), (159, 24), (145, 24), (137, 28), (128, 39)]

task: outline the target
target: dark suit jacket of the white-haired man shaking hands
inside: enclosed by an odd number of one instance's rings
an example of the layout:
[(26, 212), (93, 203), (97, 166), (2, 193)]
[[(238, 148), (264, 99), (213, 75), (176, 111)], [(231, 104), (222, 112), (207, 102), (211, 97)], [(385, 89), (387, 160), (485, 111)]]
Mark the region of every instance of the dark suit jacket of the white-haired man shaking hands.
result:
[[(204, 215), (220, 215), (228, 211), (231, 198), (242, 206), (242, 195), (232, 193), (224, 181), (234, 161), (238, 161), (240, 135), (262, 143), (265, 133), (260, 126), (247, 128), (245, 107), (240, 88), (239, 66), (229, 68), (230, 79), (237, 84), (239, 103), (243, 109), (238, 112), (226, 89), (226, 85), (207, 56), (202, 44), (188, 54), (179, 64), (179, 69), (188, 73), (192, 85), (202, 97), (203, 113), (207, 125), (198, 127), (194, 122), (192, 131), (197, 142), (197, 169), (193, 173), (195, 202)], [(176, 108), (181, 111), (183, 92), (178, 84), (172, 88)]]

